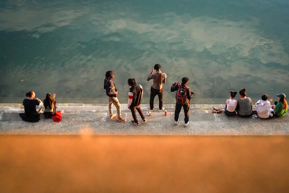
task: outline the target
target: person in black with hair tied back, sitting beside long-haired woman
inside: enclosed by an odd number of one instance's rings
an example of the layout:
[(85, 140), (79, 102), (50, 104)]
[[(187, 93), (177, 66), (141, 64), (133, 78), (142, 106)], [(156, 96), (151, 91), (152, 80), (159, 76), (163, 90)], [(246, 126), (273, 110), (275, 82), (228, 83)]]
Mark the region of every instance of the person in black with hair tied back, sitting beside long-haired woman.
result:
[(28, 98), (23, 100), (25, 113), (19, 113), (19, 116), (24, 121), (38, 122), (40, 120), (38, 112), (41, 112), (43, 103), (40, 99), (35, 98), (34, 91), (29, 91), (26, 96)]

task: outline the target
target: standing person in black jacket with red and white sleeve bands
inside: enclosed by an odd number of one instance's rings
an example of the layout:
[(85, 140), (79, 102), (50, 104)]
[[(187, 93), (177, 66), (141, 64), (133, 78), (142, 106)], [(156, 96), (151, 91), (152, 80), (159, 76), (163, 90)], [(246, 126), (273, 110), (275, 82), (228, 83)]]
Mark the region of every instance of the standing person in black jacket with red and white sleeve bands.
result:
[(139, 125), (138, 118), (136, 116), (136, 110), (138, 110), (138, 113), (140, 114), (142, 121), (143, 122), (147, 121), (144, 118), (144, 113), (142, 112), (142, 109), (140, 108), (140, 103), (142, 102), (143, 89), (141, 85), (136, 84), (136, 80), (134, 78), (129, 78), (127, 80), (127, 83), (129, 86), (131, 86), (128, 92), (128, 102), (127, 102), (127, 107), (131, 110), (132, 117), (134, 118), (134, 120), (132, 120), (131, 123), (134, 125)]

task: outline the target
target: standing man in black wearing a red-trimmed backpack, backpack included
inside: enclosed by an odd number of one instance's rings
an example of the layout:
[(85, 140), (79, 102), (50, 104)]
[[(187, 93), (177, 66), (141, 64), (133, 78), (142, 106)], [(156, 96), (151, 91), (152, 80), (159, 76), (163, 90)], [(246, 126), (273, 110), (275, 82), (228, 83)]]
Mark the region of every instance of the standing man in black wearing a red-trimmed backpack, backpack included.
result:
[(175, 82), (171, 87), (171, 92), (177, 91), (175, 94), (176, 97), (176, 109), (175, 109), (175, 125), (179, 123), (179, 113), (181, 112), (181, 107), (184, 109), (185, 113), (185, 123), (184, 127), (189, 124), (189, 109), (190, 109), (190, 100), (194, 96), (194, 92), (190, 90), (190, 87), (187, 87), (189, 82), (188, 77), (181, 79), (182, 83)]

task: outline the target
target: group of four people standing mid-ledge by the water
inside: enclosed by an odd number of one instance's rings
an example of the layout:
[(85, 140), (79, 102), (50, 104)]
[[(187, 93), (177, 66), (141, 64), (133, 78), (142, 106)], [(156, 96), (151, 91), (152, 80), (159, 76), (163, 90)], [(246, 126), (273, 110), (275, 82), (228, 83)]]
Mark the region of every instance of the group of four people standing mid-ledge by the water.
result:
[[(110, 119), (113, 119), (117, 116), (117, 120), (120, 122), (125, 122), (126, 120), (121, 117), (121, 104), (118, 101), (118, 90), (115, 87), (115, 83), (111, 80), (114, 78), (114, 72), (113, 71), (107, 71), (105, 73), (105, 79), (104, 79), (104, 89), (106, 90), (106, 95), (108, 96), (108, 110), (110, 114)], [(154, 98), (156, 95), (158, 95), (159, 98), (159, 109), (164, 110), (163, 107), (163, 86), (162, 84), (166, 83), (166, 73), (162, 73), (160, 64), (155, 64), (153, 70), (147, 77), (147, 81), (153, 80), (153, 84), (151, 85), (151, 93), (150, 93), (150, 100), (149, 100), (149, 111), (153, 111), (154, 109)], [(185, 123), (184, 127), (188, 126), (189, 124), (189, 108), (190, 108), (190, 100), (194, 96), (194, 92), (190, 91), (190, 88), (187, 86), (189, 82), (189, 78), (184, 77), (182, 78), (182, 83), (175, 82), (171, 87), (171, 92), (179, 91), (183, 92), (183, 95), (180, 95), (179, 98), (183, 99), (182, 102), (176, 102), (175, 107), (175, 125), (179, 122), (179, 113), (181, 111), (181, 107), (184, 109), (185, 113)], [(144, 117), (144, 113), (142, 109), (140, 108), (140, 104), (142, 101), (142, 94), (143, 94), (143, 88), (141, 85), (138, 85), (136, 83), (135, 78), (129, 78), (127, 80), (128, 85), (131, 87), (128, 92), (128, 103), (127, 107), (131, 110), (132, 117), (134, 120), (131, 120), (131, 123), (134, 125), (139, 125), (138, 118), (136, 116), (136, 110), (140, 114), (140, 117), (142, 118), (142, 122), (146, 122), (146, 118)], [(177, 99), (177, 93), (176, 93), (176, 99)], [(112, 105), (116, 107), (116, 113), (112, 112)]]

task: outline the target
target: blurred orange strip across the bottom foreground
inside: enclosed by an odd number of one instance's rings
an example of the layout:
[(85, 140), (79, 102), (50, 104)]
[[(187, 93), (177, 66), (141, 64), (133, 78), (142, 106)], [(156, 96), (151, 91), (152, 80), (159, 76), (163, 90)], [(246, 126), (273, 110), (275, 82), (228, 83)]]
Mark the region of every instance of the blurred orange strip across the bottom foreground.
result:
[(288, 136), (0, 135), (0, 192), (288, 192)]

